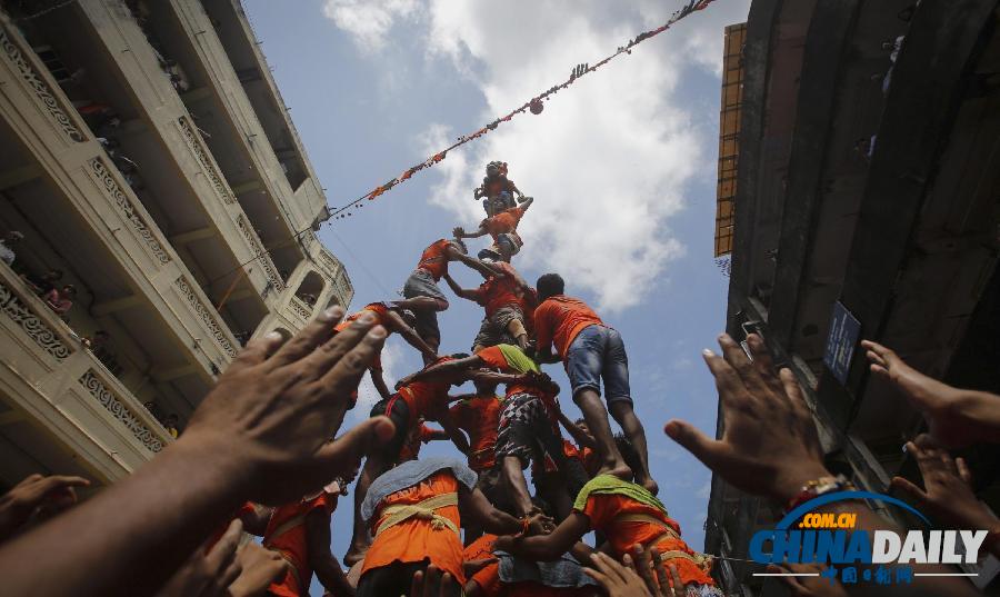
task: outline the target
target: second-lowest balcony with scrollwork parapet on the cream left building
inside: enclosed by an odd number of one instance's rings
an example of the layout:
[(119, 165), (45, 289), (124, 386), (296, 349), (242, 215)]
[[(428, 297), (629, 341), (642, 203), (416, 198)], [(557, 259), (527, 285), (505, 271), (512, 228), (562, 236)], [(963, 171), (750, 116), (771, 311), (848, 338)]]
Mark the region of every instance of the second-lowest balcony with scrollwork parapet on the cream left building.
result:
[[(84, 289), (80, 317), (113, 328), (140, 368), (190, 411), (238, 342), (126, 175), (23, 38), (0, 30), (0, 227), (27, 265)], [(74, 324), (76, 327), (76, 324)], [(183, 408), (181, 408), (183, 407)]]

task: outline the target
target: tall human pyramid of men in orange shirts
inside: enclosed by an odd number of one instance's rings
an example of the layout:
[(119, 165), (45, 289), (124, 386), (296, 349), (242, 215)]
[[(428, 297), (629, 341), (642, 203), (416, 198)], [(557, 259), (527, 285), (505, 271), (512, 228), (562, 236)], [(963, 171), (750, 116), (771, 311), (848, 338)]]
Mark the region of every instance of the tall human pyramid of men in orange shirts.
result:
[[(499, 595), (503, 583), (538, 581), (517, 574), (504, 579), (500, 563), (474, 575), (464, 570), (463, 565), (498, 553), (511, 566), (524, 560), (532, 563), (531, 570), (558, 569), (559, 588), (591, 595), (593, 581), (573, 559), (589, 561), (583, 558), (591, 547), (580, 540), (591, 530), (608, 539), (619, 559), (637, 543), (657, 547), (670, 555), (684, 584), (712, 587), (710, 561), (684, 544), (656, 498), (620, 334), (583, 301), (567, 296), (559, 275), (547, 273), (532, 287), (511, 263), (523, 243), (518, 223), (533, 199), (507, 175), (507, 163), (487, 166), (474, 195), (483, 200), (487, 217), (476, 231), (458, 227), (453, 238), (427, 247), (403, 286), (402, 300), (372, 302), (337, 326), (342, 330), (370, 314), (424, 361), (421, 370), (396, 384), (394, 392), (383, 379), (380, 359), (369, 368), (381, 395), (370, 416), (388, 417), (394, 432), (368, 454), (354, 488), (353, 535), (344, 564), (353, 567), (358, 595), (406, 593), (413, 574), (430, 564), (468, 595)], [(484, 236), (491, 237), (491, 246), (469, 256), (463, 239)], [(483, 282), (462, 288), (449, 273), (454, 262), (478, 272)], [(438, 286), (442, 279), (456, 296), (486, 311), (471, 354), (438, 355), (437, 317), (449, 307)], [(572, 399), (583, 412), (576, 422), (560, 410), (560, 388), (540, 367), (560, 358)], [(467, 381), (474, 384), (474, 392), (449, 395), (449, 388)], [(496, 394), (500, 385), (503, 397)], [(609, 411), (624, 434), (612, 435)], [(432, 430), (426, 421), (437, 421), (443, 430)], [(562, 437), (560, 424), (576, 442)], [(421, 444), (433, 439), (451, 439), (468, 464), (418, 460)], [(534, 496), (523, 472), (529, 464)], [(534, 565), (537, 560), (552, 564)]]

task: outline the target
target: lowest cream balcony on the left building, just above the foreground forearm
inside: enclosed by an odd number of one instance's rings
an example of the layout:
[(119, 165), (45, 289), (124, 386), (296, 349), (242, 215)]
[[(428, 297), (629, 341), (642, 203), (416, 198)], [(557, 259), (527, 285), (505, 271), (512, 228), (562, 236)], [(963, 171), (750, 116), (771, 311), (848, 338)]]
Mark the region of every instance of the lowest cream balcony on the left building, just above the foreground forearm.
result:
[[(0, 477), (129, 475), (172, 441), (124, 385), (0, 263)], [(58, 450), (53, 450), (53, 439)], [(30, 455), (27, 456), (27, 455)], [(30, 458), (30, 464), (24, 462)]]

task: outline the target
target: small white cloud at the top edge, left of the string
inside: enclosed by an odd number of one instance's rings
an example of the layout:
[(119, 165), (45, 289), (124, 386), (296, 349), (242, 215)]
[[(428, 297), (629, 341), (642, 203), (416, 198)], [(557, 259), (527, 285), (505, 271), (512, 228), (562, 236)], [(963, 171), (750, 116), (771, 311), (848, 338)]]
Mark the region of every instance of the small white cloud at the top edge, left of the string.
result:
[(351, 33), (354, 43), (367, 52), (386, 46), (386, 36), (399, 19), (414, 17), (418, 0), (327, 0), (323, 16)]

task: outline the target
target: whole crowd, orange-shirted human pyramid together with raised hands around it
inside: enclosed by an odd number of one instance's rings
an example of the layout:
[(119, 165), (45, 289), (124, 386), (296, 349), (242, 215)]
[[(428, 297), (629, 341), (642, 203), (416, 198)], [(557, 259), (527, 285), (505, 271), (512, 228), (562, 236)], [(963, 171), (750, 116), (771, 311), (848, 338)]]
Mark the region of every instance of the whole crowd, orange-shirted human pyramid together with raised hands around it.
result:
[[(546, 273), (531, 286), (514, 269), (523, 245), (517, 226), (531, 199), (504, 182), (506, 175), (503, 163), (488, 169), (483, 235), (456, 229), (454, 238), (428, 246), (400, 300), (371, 302), (353, 315), (332, 307), (291, 338), (271, 332), (248, 342), (184, 434), (128, 479), (80, 505), (73, 489), (88, 481), (78, 477), (31, 477), (4, 496), (6, 589), (298, 596), (308, 595), (316, 576), (338, 597), (721, 596), (712, 557), (687, 545), (657, 497), (661, 486), (632, 408), (621, 335), (567, 295), (560, 276)], [(469, 256), (463, 237), (486, 235), (491, 246)], [(449, 267), (459, 263), (483, 278), (478, 288), (451, 278)], [(484, 309), (470, 354), (440, 352), (438, 316), (449, 307), (442, 279)], [(392, 390), (379, 358), (390, 334), (424, 362)], [(746, 348), (722, 335), (719, 346), (721, 354), (706, 350), (703, 358), (724, 432), (710, 438), (671, 420), (666, 434), (727, 482), (782, 505), (842, 487), (823, 464), (794, 376), (774, 370), (757, 335)], [(893, 485), (942, 523), (989, 529), (983, 549), (997, 554), (1000, 523), (947, 449), (1000, 439), (1000, 397), (951, 388), (886, 347), (862, 346), (876, 376), (928, 421), (928, 434), (908, 445), (923, 487), (906, 479)], [(561, 388), (542, 369), (560, 360), (569, 397), (583, 414), (576, 421), (560, 409)], [(381, 400), (338, 436), (363, 375)], [(473, 392), (449, 394), (467, 381)], [(612, 431), (612, 418), (621, 434)], [(447, 439), (461, 457), (419, 457), (422, 444)], [(331, 551), (331, 513), (356, 477), (344, 569)], [(827, 508), (858, 513), (859, 529), (893, 528), (862, 501)], [(966, 579), (940, 576), (902, 588), (786, 579), (797, 595), (976, 594)]]

